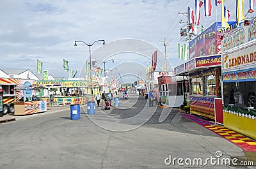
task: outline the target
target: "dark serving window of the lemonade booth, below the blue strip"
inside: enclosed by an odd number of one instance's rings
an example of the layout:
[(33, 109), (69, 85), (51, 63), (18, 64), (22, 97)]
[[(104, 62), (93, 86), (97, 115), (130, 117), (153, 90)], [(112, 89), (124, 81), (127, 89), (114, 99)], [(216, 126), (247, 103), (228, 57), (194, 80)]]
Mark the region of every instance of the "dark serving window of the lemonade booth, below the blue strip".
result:
[(256, 109), (256, 82), (223, 83), (224, 105), (254, 107)]

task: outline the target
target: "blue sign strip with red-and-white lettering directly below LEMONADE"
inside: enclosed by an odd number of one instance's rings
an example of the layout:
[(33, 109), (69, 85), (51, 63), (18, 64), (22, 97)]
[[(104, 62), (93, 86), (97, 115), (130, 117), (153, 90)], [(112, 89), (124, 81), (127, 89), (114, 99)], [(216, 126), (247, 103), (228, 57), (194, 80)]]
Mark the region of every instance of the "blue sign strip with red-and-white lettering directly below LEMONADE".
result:
[(256, 68), (223, 73), (223, 82), (256, 81)]

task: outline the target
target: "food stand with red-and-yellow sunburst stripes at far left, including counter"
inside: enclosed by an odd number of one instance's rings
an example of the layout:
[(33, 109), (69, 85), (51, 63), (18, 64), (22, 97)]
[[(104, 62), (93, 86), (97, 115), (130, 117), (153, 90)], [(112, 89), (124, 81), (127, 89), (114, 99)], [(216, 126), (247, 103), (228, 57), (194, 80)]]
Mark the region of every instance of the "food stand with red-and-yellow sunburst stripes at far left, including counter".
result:
[(47, 110), (45, 101), (33, 100), (36, 92), (32, 87), (34, 82), (30, 79), (0, 78), (4, 114), (27, 115)]

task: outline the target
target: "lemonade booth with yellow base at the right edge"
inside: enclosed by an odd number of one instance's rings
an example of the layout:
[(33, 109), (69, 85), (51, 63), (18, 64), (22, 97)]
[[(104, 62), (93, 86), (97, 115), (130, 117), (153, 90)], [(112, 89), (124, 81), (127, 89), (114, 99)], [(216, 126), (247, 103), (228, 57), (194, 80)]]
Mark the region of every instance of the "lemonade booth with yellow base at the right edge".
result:
[[(223, 38), (223, 121), (226, 128), (256, 139), (255, 20)], [(254, 30), (254, 31), (253, 31)]]

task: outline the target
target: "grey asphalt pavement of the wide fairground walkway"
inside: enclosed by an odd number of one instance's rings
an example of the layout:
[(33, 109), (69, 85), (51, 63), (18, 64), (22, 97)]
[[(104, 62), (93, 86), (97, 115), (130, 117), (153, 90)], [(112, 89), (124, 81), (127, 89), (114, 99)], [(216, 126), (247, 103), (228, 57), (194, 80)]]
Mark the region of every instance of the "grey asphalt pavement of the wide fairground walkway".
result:
[(135, 93), (119, 103), (110, 110), (96, 106), (93, 115), (81, 106), (79, 120), (70, 119), (69, 107), (52, 107), (0, 124), (0, 168), (255, 167), (210, 161), (184, 165), (189, 159), (216, 158), (216, 152), (221, 152), (218, 159), (244, 152), (171, 108), (148, 107), (147, 99)]

